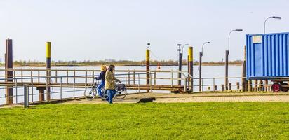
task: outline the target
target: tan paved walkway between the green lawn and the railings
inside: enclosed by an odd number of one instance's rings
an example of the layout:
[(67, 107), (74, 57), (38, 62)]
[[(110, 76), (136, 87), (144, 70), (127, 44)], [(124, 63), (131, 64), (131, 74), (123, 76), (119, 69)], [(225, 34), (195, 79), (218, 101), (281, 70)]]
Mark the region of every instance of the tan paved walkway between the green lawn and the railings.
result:
[[(142, 93), (128, 94), (125, 99), (115, 99), (114, 104), (131, 104), (140, 102), (141, 99), (155, 98), (157, 103), (182, 103), (182, 102), (289, 102), (289, 93), (205, 93), (205, 94), (173, 94), (173, 93)], [(107, 104), (101, 99), (76, 99), (60, 104)], [(0, 106), (10, 108), (23, 105)]]

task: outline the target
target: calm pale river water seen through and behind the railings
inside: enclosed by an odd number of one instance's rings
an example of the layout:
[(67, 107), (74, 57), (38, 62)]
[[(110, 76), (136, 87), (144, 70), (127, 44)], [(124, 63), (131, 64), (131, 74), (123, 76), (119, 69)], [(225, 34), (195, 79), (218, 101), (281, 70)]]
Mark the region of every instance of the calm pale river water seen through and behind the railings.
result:
[[(4, 68), (1, 68), (4, 69)], [(16, 68), (16, 69), (45, 69), (45, 68), (29, 68), (29, 67), (22, 67), (22, 68)], [(86, 67), (55, 67), (53, 69), (88, 69), (88, 70), (98, 70), (100, 69), (99, 66), (86, 66)], [(173, 71), (177, 71), (178, 66), (161, 66), (160, 70), (173, 70)], [(187, 66), (183, 66), (182, 69), (184, 71), (187, 71)], [(215, 85), (222, 85), (224, 84), (224, 66), (203, 66), (202, 67), (203, 71), (202, 71), (202, 76), (203, 78), (209, 78), (209, 79), (204, 79), (203, 80), (203, 85), (207, 85), (203, 87), (204, 91), (208, 91), (208, 90), (213, 90), (213, 84), (215, 83)], [(116, 71), (117, 70), (145, 70), (145, 66), (116, 66)], [(156, 66), (151, 66), (151, 70), (158, 70)], [(41, 71), (40, 75), (45, 75), (46, 71)], [(229, 77), (241, 77), (241, 73), (242, 73), (242, 67), (241, 66), (229, 66)], [(27, 75), (30, 76), (30, 71), (25, 71), (23, 73), (23, 75)], [(34, 76), (38, 75), (37, 71), (34, 71), (34, 73), (32, 73)], [(58, 76), (66, 76), (66, 72), (65, 71), (58, 71)], [(98, 73), (95, 73), (95, 75)], [(118, 74), (118, 73), (116, 73)], [(20, 73), (16, 73), (16, 75), (20, 75)], [(54, 76), (55, 73), (51, 73), (51, 76)], [(69, 76), (72, 76), (73, 73), (69, 73)], [(85, 75), (85, 72), (77, 72), (76, 76), (79, 75)], [(88, 73), (88, 75), (92, 75), (92, 73)], [(4, 71), (0, 71), (0, 76), (4, 76)], [(144, 76), (144, 75), (142, 75)], [(174, 78), (177, 78), (177, 73), (174, 73)], [(194, 66), (194, 73), (193, 73), (194, 78), (199, 78), (199, 66)], [(137, 77), (137, 76), (136, 76)], [(162, 78), (170, 78), (171, 77), (171, 73), (157, 73), (156, 77), (162, 77)], [(3, 78), (3, 77), (1, 77)], [(215, 78), (215, 80), (213, 80), (213, 78)], [(36, 82), (38, 79), (34, 79), (34, 82)], [(55, 79), (52, 79), (53, 81), (55, 81)], [(73, 81), (73, 78), (69, 78), (68, 79), (69, 82)], [(30, 80), (27, 79), (25, 80), (27, 82), (29, 82)], [(45, 82), (45, 78), (40, 79), (41, 82)], [(67, 81), (66, 78), (62, 79), (62, 83), (65, 83)], [(60, 78), (58, 78), (58, 82), (60, 82)], [(84, 82), (84, 78), (76, 78), (76, 83), (82, 83)], [(92, 82), (88, 81), (88, 82)], [(236, 84), (236, 82), (240, 82), (241, 83), (241, 79), (240, 78), (236, 78), (236, 79), (229, 79), (229, 82), (232, 83), (233, 85)], [(123, 81), (123, 83), (125, 83), (125, 81)], [(137, 83), (137, 81), (136, 81)], [(145, 81), (140, 81), (140, 84), (144, 84)], [(176, 85), (177, 84), (177, 80), (174, 80), (173, 83)], [(156, 80), (156, 84), (161, 84), (161, 85), (170, 85), (171, 84), (171, 80)], [(183, 84), (183, 83), (182, 83)], [(195, 79), (194, 80), (194, 91), (199, 91), (199, 80)], [(210, 87), (210, 89), (208, 89), (208, 87)], [(3, 88), (3, 87), (2, 87)], [(217, 87), (217, 90), (220, 90), (220, 86)], [(234, 88), (234, 87), (233, 87)], [(77, 91), (80, 90), (80, 91)], [(51, 99), (59, 99), (60, 98), (60, 93), (58, 93), (60, 91), (59, 88), (51, 88)], [(83, 89), (76, 89), (76, 91), (72, 92), (72, 89), (65, 89), (62, 88), (62, 91), (67, 91), (65, 93), (62, 93), (62, 98), (66, 98), (66, 97), (81, 97), (84, 94), (84, 90)], [(17, 98), (17, 102), (23, 102), (23, 97), (21, 96), (23, 94), (23, 87), (18, 87), (17, 91), (16, 89), (14, 89), (13, 94), (15, 95), (17, 92), (18, 94), (18, 98)], [(138, 92), (138, 90), (130, 90), (128, 92)], [(142, 92), (142, 91), (141, 91)], [(159, 91), (157, 91), (159, 92)], [(167, 91), (162, 91), (162, 92), (167, 92)], [(36, 88), (33, 89), (33, 100), (34, 101), (38, 101), (39, 100), (39, 95), (38, 95), (38, 90), (36, 90)], [(29, 101), (32, 101), (32, 88), (29, 88)], [(0, 104), (5, 104), (5, 90), (4, 89), (0, 89)], [(16, 98), (14, 97), (14, 102), (16, 102)]]

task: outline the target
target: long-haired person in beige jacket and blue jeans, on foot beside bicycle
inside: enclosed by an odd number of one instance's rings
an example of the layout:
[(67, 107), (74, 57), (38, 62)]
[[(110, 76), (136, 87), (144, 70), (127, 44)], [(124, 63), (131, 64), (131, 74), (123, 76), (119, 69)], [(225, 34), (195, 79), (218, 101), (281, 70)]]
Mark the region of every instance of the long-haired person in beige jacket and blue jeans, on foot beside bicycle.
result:
[(116, 93), (114, 83), (115, 82), (121, 82), (119, 79), (114, 77), (114, 65), (109, 65), (107, 72), (105, 73), (105, 90), (107, 90), (108, 93), (108, 102), (109, 104), (112, 104), (112, 98), (114, 97), (114, 94)]

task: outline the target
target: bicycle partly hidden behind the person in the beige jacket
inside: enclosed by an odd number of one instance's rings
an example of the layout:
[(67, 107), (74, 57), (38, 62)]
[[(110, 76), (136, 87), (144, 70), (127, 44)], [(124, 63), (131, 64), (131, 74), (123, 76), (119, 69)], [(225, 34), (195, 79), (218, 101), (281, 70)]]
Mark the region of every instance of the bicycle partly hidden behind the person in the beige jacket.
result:
[[(88, 93), (88, 95), (86, 96), (86, 99), (88, 100), (93, 100), (95, 99), (95, 97), (98, 96), (98, 87), (99, 83), (98, 80), (97, 82), (95, 82), (93, 84), (93, 87), (91, 87), (90, 92)], [(116, 90), (116, 94), (114, 94), (113, 99), (124, 99), (126, 97), (126, 84), (123, 83), (117, 83), (114, 86), (115, 90)], [(105, 87), (102, 87), (102, 97), (100, 97), (102, 100), (107, 100), (108, 98), (108, 93), (107, 90), (105, 90)]]

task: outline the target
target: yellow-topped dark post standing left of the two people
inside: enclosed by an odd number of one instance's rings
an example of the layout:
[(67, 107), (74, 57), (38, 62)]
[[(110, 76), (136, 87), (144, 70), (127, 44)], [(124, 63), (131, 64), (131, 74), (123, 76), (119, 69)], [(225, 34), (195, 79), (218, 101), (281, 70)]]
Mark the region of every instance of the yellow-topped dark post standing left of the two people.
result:
[[(46, 99), (49, 101), (51, 99), (51, 42), (46, 42)], [(44, 100), (44, 95), (39, 94), (39, 100)]]

